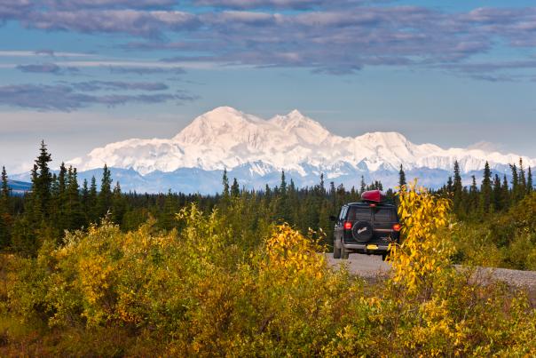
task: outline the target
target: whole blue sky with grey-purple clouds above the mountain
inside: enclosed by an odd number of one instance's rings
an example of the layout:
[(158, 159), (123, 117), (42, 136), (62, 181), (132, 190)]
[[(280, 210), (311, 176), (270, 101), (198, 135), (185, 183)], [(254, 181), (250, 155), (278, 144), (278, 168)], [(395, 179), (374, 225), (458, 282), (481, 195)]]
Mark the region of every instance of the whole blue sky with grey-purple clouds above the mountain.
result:
[(531, 1), (0, 0), (0, 78), (12, 172), (222, 105), (536, 157)]

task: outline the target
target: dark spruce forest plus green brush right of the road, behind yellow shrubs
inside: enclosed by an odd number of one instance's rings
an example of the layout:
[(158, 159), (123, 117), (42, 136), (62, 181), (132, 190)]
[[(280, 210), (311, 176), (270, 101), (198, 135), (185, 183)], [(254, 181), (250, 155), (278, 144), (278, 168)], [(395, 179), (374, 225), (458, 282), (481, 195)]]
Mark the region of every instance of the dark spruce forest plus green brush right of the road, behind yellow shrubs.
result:
[[(58, 172), (49, 168), (51, 154), (42, 143), (32, 171), (31, 193), (12, 195), (8, 174), (3, 171), (0, 187), (0, 252), (24, 257), (37, 255), (45, 241), (61, 244), (66, 231), (75, 231), (99, 223), (101, 219), (118, 225), (122, 232), (137, 230), (148, 220), (154, 230), (181, 230), (175, 219), (178, 211), (195, 203), (201, 211), (226, 211), (231, 201), (240, 201), (240, 216), (249, 230), (266, 223), (288, 223), (303, 235), (309, 229), (323, 232), (322, 244), (332, 250), (333, 222), (343, 203), (359, 201), (366, 190), (383, 189), (381, 181), (367, 184), (361, 178), (356, 187), (335, 187), (325, 183), (323, 176), (313, 187), (298, 188), (292, 179), (281, 173), (280, 185), (263, 190), (247, 190), (236, 179), (222, 179), (223, 190), (218, 195), (157, 195), (123, 193), (121, 184), (114, 182), (104, 168), (99, 187), (95, 178), (80, 183), (75, 168), (61, 165)], [(445, 186), (433, 194), (452, 201), (453, 241), (456, 251), (453, 262), (462, 265), (536, 269), (536, 194), (532, 169), (523, 161), (512, 164), (511, 179), (502, 178), (485, 165), (482, 182), (473, 178), (469, 187), (462, 185), (458, 163)], [(399, 185), (406, 185), (401, 167)], [(397, 196), (387, 190), (391, 201)], [(256, 245), (260, 236), (252, 237)]]

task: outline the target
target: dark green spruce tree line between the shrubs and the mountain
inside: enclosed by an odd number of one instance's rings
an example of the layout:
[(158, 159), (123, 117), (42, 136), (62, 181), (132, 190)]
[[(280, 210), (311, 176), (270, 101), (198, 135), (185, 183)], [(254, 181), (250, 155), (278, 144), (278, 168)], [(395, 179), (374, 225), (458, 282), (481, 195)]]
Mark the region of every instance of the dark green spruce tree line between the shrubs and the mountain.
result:
[[(123, 193), (119, 182), (111, 177), (106, 164), (98, 190), (96, 179), (77, 179), (76, 168), (62, 163), (59, 172), (52, 173), (49, 167), (51, 154), (44, 142), (31, 171), (32, 190), (24, 195), (12, 195), (8, 176), (3, 168), (0, 189), (0, 250), (35, 256), (41, 243), (54, 240), (60, 243), (66, 230), (73, 231), (106, 218), (118, 224), (122, 230), (138, 228), (148, 219), (155, 219), (155, 227), (162, 230), (180, 228), (175, 214), (188, 203), (196, 203), (203, 211), (217, 209), (226, 213), (242, 208), (241, 218), (251, 226), (268, 221), (287, 222), (301, 232), (309, 229), (322, 231), (326, 243), (331, 244), (333, 223), (330, 216), (336, 215), (343, 203), (359, 201), (366, 190), (383, 189), (380, 180), (367, 184), (361, 177), (358, 187), (346, 188), (334, 182), (326, 185), (324, 176), (311, 187), (296, 187), (288, 182), (281, 172), (280, 185), (263, 190), (248, 190), (240, 187), (238, 180), (230, 180), (224, 171), (223, 190), (217, 195), (172, 193), (138, 194)], [(459, 163), (454, 163), (453, 177), (435, 193), (453, 200), (453, 211), (460, 219), (479, 219), (497, 211), (506, 211), (512, 203), (521, 200), (533, 190), (531, 168), (525, 172), (523, 161), (511, 165), (512, 180), (505, 176), (492, 175), (485, 164), (482, 182), (477, 185), (473, 176), (469, 187), (463, 186)], [(399, 187), (406, 185), (406, 174), (400, 166)], [(392, 189), (387, 196), (394, 201)]]

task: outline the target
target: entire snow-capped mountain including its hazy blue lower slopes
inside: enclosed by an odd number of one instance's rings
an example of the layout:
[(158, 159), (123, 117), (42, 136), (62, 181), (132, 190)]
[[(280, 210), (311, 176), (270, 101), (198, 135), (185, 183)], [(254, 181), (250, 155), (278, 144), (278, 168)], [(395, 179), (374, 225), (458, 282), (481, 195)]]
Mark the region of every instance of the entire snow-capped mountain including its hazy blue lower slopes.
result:
[[(140, 178), (162, 183), (152, 181), (147, 191), (173, 189), (177, 185), (169, 184), (174, 184), (172, 178), (179, 173), (187, 177), (183, 179), (193, 178), (193, 183), (183, 182), (189, 191), (201, 191), (201, 187), (206, 191), (211, 184), (203, 180), (214, 181), (213, 177), (224, 169), (248, 187), (264, 187), (266, 182), (279, 178), (281, 170), (302, 185), (316, 183), (320, 172), (345, 185), (357, 185), (361, 175), (366, 179), (383, 179), (390, 185), (390, 181), (396, 182), (394, 174), (402, 164), (406, 173), (420, 176), (424, 182), (434, 178), (429, 185), (436, 186), (445, 182), (455, 160), (461, 171), (469, 174), (482, 170), (486, 161), (495, 171), (507, 171), (508, 164), (516, 163), (519, 157), (481, 149), (417, 145), (398, 132), (340, 137), (297, 110), (265, 120), (232, 107), (217, 107), (195, 118), (171, 139), (111, 143), (69, 164), (79, 171), (91, 171), (106, 163), (123, 172), (122, 187), (138, 191), (144, 191)], [(535, 159), (523, 159), (527, 166), (536, 165)], [(124, 172), (135, 172), (138, 184), (130, 186), (130, 177)], [(219, 180), (214, 185), (219, 186)], [(219, 189), (215, 187), (213, 192)]]

